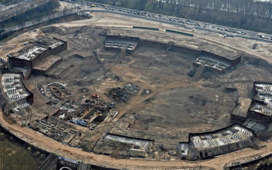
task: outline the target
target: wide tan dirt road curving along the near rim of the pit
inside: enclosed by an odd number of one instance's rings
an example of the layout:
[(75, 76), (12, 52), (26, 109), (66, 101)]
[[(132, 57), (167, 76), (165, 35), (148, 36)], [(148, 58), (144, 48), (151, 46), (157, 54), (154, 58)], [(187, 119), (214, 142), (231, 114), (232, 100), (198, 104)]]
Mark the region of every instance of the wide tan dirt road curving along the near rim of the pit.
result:
[[(9, 124), (7, 118), (3, 115), (3, 112), (0, 112), (0, 123), (1, 126), (9, 129), (13, 134), (21, 138), (22, 140), (28, 140), (28, 142), (34, 146), (37, 146), (41, 149), (46, 149), (51, 153), (56, 153), (58, 155), (69, 157), (75, 160), (81, 160), (85, 163), (92, 163), (92, 165), (106, 166), (106, 167), (115, 167), (118, 169), (125, 169), (127, 162), (127, 169), (153, 169), (157, 167), (158, 169), (180, 169), (182, 166), (188, 167), (199, 167), (204, 166), (206, 169), (213, 168), (216, 170), (223, 170), (224, 165), (231, 164), (234, 157), (234, 161), (238, 159), (243, 159), (248, 156), (260, 155), (266, 152), (266, 148), (259, 150), (254, 150), (251, 148), (246, 148), (237, 152), (220, 155), (217, 158), (207, 159), (202, 161), (180, 161), (180, 160), (171, 160), (171, 161), (160, 161), (148, 160), (142, 158), (131, 158), (131, 159), (114, 159), (106, 155), (96, 155), (94, 153), (84, 152), (81, 149), (73, 148), (57, 142), (51, 138), (40, 134), (34, 130), (31, 130), (27, 127), (22, 127), (19, 124)], [(27, 135), (27, 136), (26, 136)], [(272, 150), (272, 143), (267, 143), (267, 150)], [(186, 169), (186, 167), (185, 167)]]

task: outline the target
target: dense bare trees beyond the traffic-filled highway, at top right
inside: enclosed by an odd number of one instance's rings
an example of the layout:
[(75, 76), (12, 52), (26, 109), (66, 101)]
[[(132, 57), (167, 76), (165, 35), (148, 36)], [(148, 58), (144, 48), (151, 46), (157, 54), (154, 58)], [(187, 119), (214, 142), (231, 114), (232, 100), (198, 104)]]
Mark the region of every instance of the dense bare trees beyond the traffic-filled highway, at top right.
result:
[(272, 34), (272, 0), (92, 0)]

